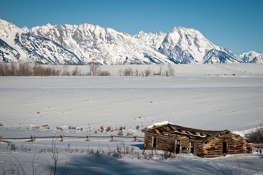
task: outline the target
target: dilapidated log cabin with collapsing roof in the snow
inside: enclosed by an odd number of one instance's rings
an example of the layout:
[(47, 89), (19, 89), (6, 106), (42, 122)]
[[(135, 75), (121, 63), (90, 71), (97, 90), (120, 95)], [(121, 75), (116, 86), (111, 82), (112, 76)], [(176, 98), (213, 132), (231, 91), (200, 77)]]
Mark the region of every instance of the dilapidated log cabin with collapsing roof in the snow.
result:
[(182, 127), (170, 123), (142, 129), (144, 149), (168, 150), (173, 153), (192, 153), (199, 157), (252, 153), (245, 137), (229, 130), (208, 131)]

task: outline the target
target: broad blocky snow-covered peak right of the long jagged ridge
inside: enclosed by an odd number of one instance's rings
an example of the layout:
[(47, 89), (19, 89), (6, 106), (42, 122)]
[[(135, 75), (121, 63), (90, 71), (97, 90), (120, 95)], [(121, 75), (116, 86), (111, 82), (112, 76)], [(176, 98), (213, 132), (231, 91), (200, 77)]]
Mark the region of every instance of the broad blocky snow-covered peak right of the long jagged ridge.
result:
[(182, 64), (243, 63), (233, 52), (215, 46), (195, 29), (174, 27), (167, 34), (144, 34), (140, 31), (133, 37)]

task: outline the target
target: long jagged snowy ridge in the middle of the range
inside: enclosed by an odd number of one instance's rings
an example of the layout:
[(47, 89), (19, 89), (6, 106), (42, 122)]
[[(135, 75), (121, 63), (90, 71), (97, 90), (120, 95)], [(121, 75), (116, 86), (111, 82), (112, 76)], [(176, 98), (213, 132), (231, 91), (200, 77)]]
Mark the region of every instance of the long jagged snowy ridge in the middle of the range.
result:
[(83, 62), (92, 60), (102, 64), (117, 62), (173, 63), (172, 59), (159, 53), (145, 42), (125, 32), (117, 32), (92, 24), (55, 25), (33, 27), (32, 34), (43, 36), (75, 53)]

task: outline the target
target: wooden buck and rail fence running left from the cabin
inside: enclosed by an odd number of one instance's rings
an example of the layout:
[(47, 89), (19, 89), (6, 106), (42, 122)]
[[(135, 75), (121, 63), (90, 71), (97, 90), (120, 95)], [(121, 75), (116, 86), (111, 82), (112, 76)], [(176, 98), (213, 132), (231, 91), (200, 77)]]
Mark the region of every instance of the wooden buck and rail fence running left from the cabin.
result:
[[(111, 138), (110, 141), (120, 141), (120, 140), (113, 140), (114, 137), (121, 137), (121, 138), (133, 138), (134, 140), (132, 141), (143, 141), (143, 140), (139, 140), (137, 138), (144, 138), (144, 137), (138, 137), (138, 136), (114, 136), (114, 135), (111, 135), (111, 136), (64, 136), (64, 135), (60, 135), (60, 136), (45, 136), (45, 137), (37, 137), (37, 136), (30, 136), (30, 137), (26, 137), (26, 138), (4, 138), (2, 136), (0, 136), (0, 143), (1, 142), (11, 142), (11, 141), (7, 141), (7, 140), (12, 140), (12, 139), (15, 139), (15, 140), (25, 140), (25, 139), (30, 139), (30, 140), (27, 140), (27, 142), (34, 142), (36, 139), (43, 139), (43, 138), (50, 138), (50, 139), (60, 139), (60, 142), (63, 141), (63, 138), (64, 137), (71, 137), (71, 138), (85, 138), (85, 141), (90, 141), (89, 139), (92, 138), (92, 137), (97, 137), (97, 138)], [(1, 140), (1, 139), (7, 139), (7, 140)], [(122, 140), (122, 141), (127, 141), (127, 140)]]

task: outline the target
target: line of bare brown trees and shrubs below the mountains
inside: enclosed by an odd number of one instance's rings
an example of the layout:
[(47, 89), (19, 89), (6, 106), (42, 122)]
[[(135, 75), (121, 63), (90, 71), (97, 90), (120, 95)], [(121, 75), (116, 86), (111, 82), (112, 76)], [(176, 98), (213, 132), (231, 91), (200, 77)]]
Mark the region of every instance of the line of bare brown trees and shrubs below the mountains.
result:
[[(70, 70), (70, 65), (44, 65), (38, 62), (18, 62), (6, 63), (0, 62), (0, 76), (111, 76), (108, 70), (101, 70), (101, 64), (98, 62), (90, 62), (89, 71), (84, 72), (75, 65), (74, 69)], [(119, 69), (119, 76), (174, 76), (174, 67), (172, 64), (157, 64), (159, 70), (153, 71), (150, 67), (139, 71), (133, 70), (131, 67)]]

